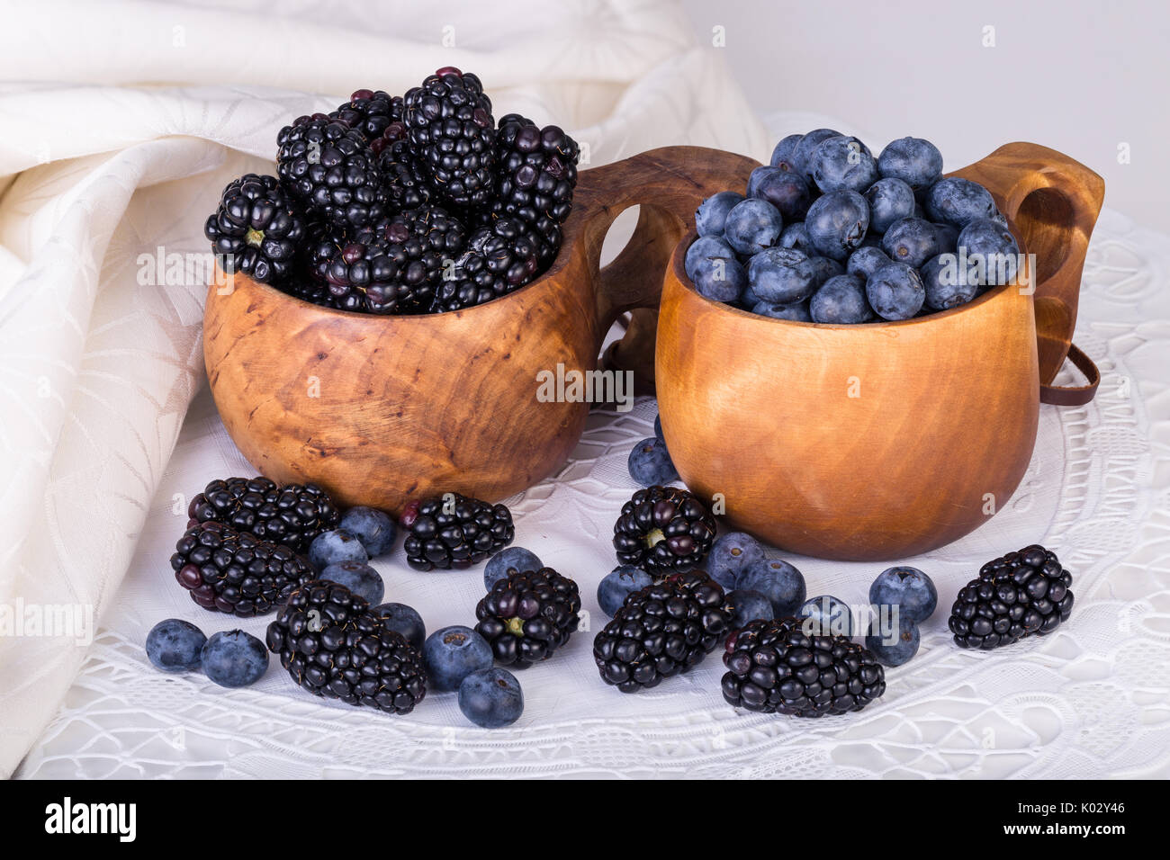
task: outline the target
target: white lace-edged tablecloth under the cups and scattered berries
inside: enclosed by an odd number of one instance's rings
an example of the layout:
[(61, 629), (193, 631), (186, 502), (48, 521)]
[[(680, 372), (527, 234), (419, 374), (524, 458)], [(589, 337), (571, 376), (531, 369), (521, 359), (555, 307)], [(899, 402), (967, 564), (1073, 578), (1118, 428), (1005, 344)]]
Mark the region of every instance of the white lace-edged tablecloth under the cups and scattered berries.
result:
[[(186, 500), (212, 477), (254, 474), (206, 388), (187, 415), (137, 555), (64, 706), (25, 759), (23, 777), (309, 776), (1170, 776), (1170, 240), (1106, 212), (1094, 234), (1078, 344), (1101, 367), (1096, 400), (1041, 410), (1031, 468), (1011, 503), (966, 538), (910, 564), (940, 607), (922, 648), (889, 669), (865, 711), (820, 721), (737, 713), (720, 695), (718, 654), (648, 694), (601, 683), (591, 633), (519, 675), (525, 711), (486, 731), (452, 694), (408, 716), (326, 703), (273, 663), (255, 687), (165, 675), (143, 642), (161, 618), (208, 634), (238, 621), (198, 608), (167, 558)], [(626, 456), (652, 433), (652, 400), (594, 412), (559, 474), (509, 500), (516, 543), (581, 586), (592, 629), (598, 580), (614, 564), (612, 524), (634, 489)], [(978, 566), (1031, 542), (1073, 572), (1076, 607), (1047, 638), (994, 653), (956, 648), (947, 614)], [(400, 543), (399, 543), (400, 546)], [(778, 555), (778, 553), (773, 553)], [(880, 564), (790, 557), (808, 593), (865, 600)], [(395, 555), (376, 566), (386, 599), (415, 606), (428, 629), (467, 624), (482, 566), (418, 573)]]

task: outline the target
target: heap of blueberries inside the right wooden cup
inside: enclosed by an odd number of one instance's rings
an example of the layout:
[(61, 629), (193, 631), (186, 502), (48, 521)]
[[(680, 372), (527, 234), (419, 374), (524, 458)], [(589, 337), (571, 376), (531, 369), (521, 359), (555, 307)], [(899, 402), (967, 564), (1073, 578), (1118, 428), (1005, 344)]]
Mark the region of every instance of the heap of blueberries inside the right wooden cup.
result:
[(746, 195), (722, 191), (698, 207), (687, 276), (707, 298), (798, 322), (957, 308), (1012, 282), (1019, 246), (986, 188), (942, 170), (922, 138), (875, 158), (832, 129), (790, 135)]

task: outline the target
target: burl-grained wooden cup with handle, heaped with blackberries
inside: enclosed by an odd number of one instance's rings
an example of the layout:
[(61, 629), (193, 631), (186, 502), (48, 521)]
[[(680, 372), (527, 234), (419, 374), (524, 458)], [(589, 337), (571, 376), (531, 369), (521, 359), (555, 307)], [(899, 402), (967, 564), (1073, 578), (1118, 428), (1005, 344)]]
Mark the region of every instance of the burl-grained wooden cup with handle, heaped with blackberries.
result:
[[(518, 493), (560, 467), (590, 408), (542, 401), (537, 374), (597, 369), (605, 333), (627, 311), (606, 364), (648, 371), (674, 247), (697, 205), (743, 187), (753, 165), (675, 146), (583, 171), (552, 268), (464, 311), (371, 316), (239, 275), (230, 290), (212, 284), (204, 358), (220, 417), (263, 475), (317, 482), (344, 505), (400, 511), (432, 493)], [(600, 269), (606, 232), (633, 205), (633, 239)]]

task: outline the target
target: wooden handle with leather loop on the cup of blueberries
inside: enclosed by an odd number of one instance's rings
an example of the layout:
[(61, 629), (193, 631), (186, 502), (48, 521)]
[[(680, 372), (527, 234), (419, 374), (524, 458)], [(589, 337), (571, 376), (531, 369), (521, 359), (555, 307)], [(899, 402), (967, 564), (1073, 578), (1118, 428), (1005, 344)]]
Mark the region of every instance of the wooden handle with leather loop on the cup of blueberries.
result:
[[(1040, 359), (1040, 400), (1082, 406), (1096, 393), (1101, 373), (1073, 345), (1081, 271), (1101, 204), (1104, 180), (1068, 156), (1031, 143), (1000, 146), (980, 161), (956, 171), (984, 185), (1035, 254), (1035, 333)], [(1058, 386), (1052, 380), (1068, 358), (1087, 385)]]

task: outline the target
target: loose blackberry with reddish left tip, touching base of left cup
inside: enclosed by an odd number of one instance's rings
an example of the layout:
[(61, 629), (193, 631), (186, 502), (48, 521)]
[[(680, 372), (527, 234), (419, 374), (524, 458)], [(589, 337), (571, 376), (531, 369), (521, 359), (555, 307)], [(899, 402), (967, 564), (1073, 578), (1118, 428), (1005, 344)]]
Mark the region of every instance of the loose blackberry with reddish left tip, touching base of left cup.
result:
[(406, 562), (415, 570), (469, 567), (516, 537), (508, 508), (457, 493), (411, 502), (400, 522)]

